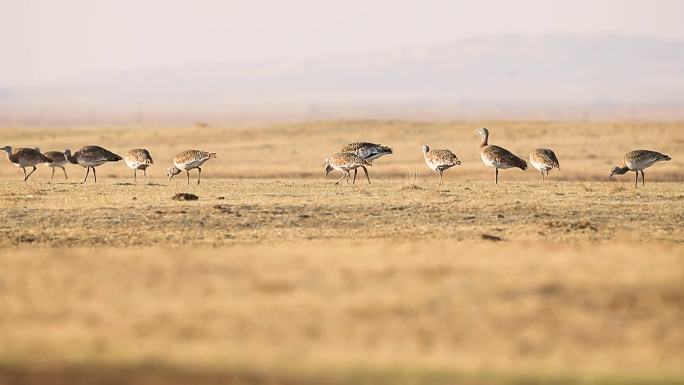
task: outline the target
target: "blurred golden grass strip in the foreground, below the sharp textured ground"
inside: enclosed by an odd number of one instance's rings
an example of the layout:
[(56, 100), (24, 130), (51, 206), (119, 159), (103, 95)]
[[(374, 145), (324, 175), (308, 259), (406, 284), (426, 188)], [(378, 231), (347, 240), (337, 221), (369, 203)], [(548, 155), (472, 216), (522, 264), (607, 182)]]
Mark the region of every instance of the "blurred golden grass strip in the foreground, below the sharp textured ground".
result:
[(3, 251), (0, 378), (681, 383), (682, 246), (349, 243)]

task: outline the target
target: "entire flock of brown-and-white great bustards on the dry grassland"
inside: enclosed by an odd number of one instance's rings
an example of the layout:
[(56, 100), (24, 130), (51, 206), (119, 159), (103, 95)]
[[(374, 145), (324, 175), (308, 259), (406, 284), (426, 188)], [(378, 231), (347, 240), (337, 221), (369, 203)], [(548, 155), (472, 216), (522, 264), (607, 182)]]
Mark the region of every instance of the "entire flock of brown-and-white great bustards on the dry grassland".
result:
[[(494, 144), (489, 144), (489, 130), (480, 128), (476, 130), (482, 136), (480, 143), (480, 157), (485, 166), (494, 168), (495, 183), (499, 183), (499, 170), (507, 168), (519, 168), (521, 170), (527, 169), (527, 162), (506, 150)], [(143, 171), (143, 178), (147, 179), (147, 168), (153, 164), (152, 156), (146, 149), (137, 148), (132, 149), (124, 154), (123, 157), (106, 150), (100, 146), (85, 146), (80, 150), (71, 153), (70, 150), (48, 151), (41, 153), (37, 148), (15, 148), (10, 146), (1, 148), (7, 153), (7, 158), (15, 166), (24, 171), (24, 181), (36, 171), (36, 165), (46, 164), (52, 168), (52, 175), (50, 180), (55, 176), (55, 168), (61, 168), (64, 172), (64, 178), (67, 178), (66, 169), (64, 166), (67, 163), (78, 164), (86, 169), (86, 175), (83, 183), (88, 180), (90, 170), (93, 171), (93, 178), (97, 182), (97, 174), (95, 167), (100, 166), (106, 162), (118, 162), (124, 160), (126, 165), (133, 170), (133, 183), (137, 181), (138, 170)], [(327, 176), (331, 171), (340, 171), (342, 177), (338, 179), (335, 184), (338, 184), (343, 179), (349, 182), (351, 171), (354, 171), (352, 184), (356, 182), (356, 175), (358, 169), (361, 168), (366, 174), (366, 179), (370, 183), (367, 166), (371, 166), (373, 160), (384, 155), (392, 154), (392, 149), (375, 143), (357, 142), (348, 144), (340, 150), (340, 152), (333, 154), (325, 160), (325, 175)], [(461, 164), (456, 154), (448, 149), (431, 149), (429, 146), (423, 146), (423, 157), (425, 164), (432, 171), (439, 174), (439, 183), (442, 183), (444, 171)], [(207, 152), (201, 150), (186, 150), (178, 153), (173, 159), (173, 167), (169, 168), (166, 175), (169, 177), (169, 182), (175, 176), (185, 171), (190, 184), (190, 170), (197, 169), (197, 184), (200, 183), (202, 175), (202, 165), (210, 160), (216, 158), (215, 152)], [(635, 186), (639, 181), (639, 173), (641, 172), (642, 184), (645, 184), (644, 169), (652, 166), (660, 161), (669, 161), (671, 158), (667, 155), (661, 154), (657, 151), (650, 150), (635, 150), (625, 154), (619, 166), (613, 168), (610, 176), (626, 174), (628, 171), (636, 173), (634, 181)], [(541, 172), (542, 183), (544, 182), (544, 174), (548, 175), (552, 169), (560, 170), (560, 163), (556, 154), (548, 148), (538, 148), (530, 154), (530, 163), (532, 166)], [(27, 174), (26, 169), (31, 168)]]

